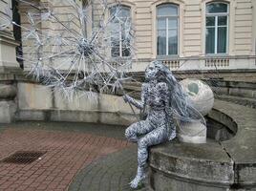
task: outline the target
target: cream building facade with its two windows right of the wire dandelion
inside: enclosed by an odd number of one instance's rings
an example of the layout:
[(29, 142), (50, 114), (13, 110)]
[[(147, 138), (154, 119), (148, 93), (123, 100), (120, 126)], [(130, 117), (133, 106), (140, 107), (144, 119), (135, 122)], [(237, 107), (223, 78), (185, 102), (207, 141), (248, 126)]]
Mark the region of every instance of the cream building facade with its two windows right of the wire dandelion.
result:
[(161, 59), (178, 70), (255, 69), (255, 1), (121, 3), (135, 26), (139, 62)]

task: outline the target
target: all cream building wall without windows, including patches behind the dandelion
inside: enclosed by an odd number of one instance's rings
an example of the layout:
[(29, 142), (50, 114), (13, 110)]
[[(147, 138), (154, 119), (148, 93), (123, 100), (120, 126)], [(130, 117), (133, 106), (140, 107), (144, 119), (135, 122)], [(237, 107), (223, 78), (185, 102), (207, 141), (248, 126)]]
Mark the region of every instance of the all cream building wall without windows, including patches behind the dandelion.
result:
[[(51, 2), (50, 0), (44, 1)], [(102, 7), (98, 1), (93, 1), (94, 25), (97, 25), (99, 15), (102, 12)], [(111, 0), (111, 2), (114, 2), (114, 0)], [(167, 57), (165, 60), (173, 70), (215, 70), (216, 64), (213, 64), (215, 62), (218, 62), (217, 67), (220, 69), (256, 69), (254, 57), (256, 24), (255, 21), (254, 24), (252, 21), (256, 17), (256, 1), (224, 1), (229, 3), (227, 56), (224, 59), (210, 62), (207, 60), (204, 51), (205, 4), (208, 2), (211, 2), (211, 0), (121, 0), (122, 4), (131, 8), (132, 20), (136, 30), (135, 47), (137, 48), (138, 61), (134, 64), (132, 70), (142, 71), (148, 61), (157, 58), (156, 7), (162, 3), (174, 3), (180, 7), (179, 57)], [(52, 4), (51, 8), (56, 12), (72, 13), (65, 6)], [(53, 23), (48, 23), (44, 26), (44, 29), (55, 30), (53, 25)], [(76, 21), (73, 27), (75, 30), (79, 30)], [(26, 49), (26, 44), (24, 47)], [(187, 60), (185, 64), (180, 60), (182, 58), (190, 59), (191, 56), (194, 60)], [(243, 58), (237, 59), (236, 56), (243, 56)]]

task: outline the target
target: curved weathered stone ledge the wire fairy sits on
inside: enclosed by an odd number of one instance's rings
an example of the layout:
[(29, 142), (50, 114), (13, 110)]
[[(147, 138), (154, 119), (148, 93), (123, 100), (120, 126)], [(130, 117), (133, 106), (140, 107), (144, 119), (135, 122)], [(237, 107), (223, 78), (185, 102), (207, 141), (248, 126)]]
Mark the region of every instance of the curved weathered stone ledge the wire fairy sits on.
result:
[(151, 149), (153, 190), (223, 191), (256, 189), (256, 110), (215, 101), (210, 117), (221, 120), (234, 138), (205, 144), (167, 142)]

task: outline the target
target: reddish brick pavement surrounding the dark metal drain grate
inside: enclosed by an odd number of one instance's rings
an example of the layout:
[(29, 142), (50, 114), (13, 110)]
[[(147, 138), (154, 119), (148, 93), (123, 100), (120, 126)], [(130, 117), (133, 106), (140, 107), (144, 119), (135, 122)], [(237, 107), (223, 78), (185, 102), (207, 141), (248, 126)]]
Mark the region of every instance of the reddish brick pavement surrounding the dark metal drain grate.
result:
[[(57, 130), (37, 128), (36, 124), (25, 123), (1, 128), (0, 159), (16, 151), (47, 153), (31, 164), (0, 162), (0, 190), (67, 190), (80, 169), (130, 145), (124, 139), (86, 132), (85, 124), (82, 125), (82, 131), (61, 131), (62, 125), (67, 126), (65, 123), (50, 124), (59, 126)], [(48, 123), (44, 125), (48, 126)], [(70, 129), (73, 127), (75, 123), (70, 124)], [(104, 127), (100, 131), (104, 134)], [(117, 131), (122, 133), (123, 129), (119, 128)]]

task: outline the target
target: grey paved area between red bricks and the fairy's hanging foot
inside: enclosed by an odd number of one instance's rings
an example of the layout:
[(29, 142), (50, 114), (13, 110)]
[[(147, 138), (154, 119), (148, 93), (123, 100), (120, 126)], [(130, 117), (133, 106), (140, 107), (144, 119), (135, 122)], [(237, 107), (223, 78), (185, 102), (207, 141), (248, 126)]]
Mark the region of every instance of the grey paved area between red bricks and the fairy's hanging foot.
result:
[[(69, 191), (132, 191), (128, 183), (136, 170), (137, 147), (133, 145), (87, 165), (75, 176)], [(140, 185), (137, 190), (148, 189)]]

